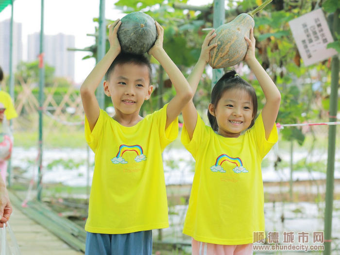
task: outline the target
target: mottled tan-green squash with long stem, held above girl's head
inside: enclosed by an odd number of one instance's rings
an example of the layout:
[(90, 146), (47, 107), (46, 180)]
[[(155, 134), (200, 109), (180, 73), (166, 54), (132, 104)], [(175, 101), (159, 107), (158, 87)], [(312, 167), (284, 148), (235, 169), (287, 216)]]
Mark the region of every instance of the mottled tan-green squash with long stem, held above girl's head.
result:
[(262, 10), (272, 0), (266, 0), (250, 13), (242, 13), (235, 19), (221, 25), (216, 29), (217, 36), (210, 44), (217, 43), (217, 47), (210, 51), (209, 64), (212, 68), (225, 68), (241, 62), (248, 50), (248, 43), (244, 36), (249, 38), (250, 30), (254, 28), (254, 15)]

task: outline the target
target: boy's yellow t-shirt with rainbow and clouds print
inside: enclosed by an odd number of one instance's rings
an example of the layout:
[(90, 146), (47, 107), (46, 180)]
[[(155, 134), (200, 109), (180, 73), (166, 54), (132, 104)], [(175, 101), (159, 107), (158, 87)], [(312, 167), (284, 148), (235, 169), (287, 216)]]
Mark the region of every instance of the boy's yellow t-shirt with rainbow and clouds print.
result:
[(101, 110), (85, 137), (95, 167), (85, 230), (124, 234), (169, 227), (162, 152), (178, 135), (178, 119), (165, 130), (167, 105), (125, 127)]

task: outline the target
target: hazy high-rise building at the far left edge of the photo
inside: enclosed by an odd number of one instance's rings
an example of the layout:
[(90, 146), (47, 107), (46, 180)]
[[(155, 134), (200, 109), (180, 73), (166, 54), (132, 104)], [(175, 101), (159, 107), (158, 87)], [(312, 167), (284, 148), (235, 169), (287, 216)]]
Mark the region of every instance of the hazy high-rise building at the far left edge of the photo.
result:
[[(0, 22), (0, 66), (5, 74), (9, 73), (9, 47), (10, 47), (11, 20), (6, 19)], [(16, 71), (17, 64), (22, 60), (22, 36), (21, 23), (13, 22), (13, 71)]]

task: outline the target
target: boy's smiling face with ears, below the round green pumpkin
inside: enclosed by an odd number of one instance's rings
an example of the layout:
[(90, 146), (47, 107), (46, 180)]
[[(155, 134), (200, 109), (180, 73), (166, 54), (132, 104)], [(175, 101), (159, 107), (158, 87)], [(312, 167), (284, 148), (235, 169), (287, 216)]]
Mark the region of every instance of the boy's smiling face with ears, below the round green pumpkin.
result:
[(116, 114), (139, 115), (144, 100), (153, 91), (150, 85), (149, 68), (135, 63), (117, 64), (104, 81), (104, 92), (111, 97)]

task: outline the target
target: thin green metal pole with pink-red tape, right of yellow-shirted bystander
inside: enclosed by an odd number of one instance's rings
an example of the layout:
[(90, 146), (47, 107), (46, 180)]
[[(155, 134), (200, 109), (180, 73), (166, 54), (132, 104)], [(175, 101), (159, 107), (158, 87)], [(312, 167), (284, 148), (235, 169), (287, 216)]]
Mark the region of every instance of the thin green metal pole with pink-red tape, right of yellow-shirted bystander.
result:
[(39, 168), (37, 200), (41, 201), (42, 190), (42, 135), (43, 135), (43, 101), (44, 101), (44, 0), (41, 0), (41, 23), (40, 23), (40, 54), (39, 54)]

